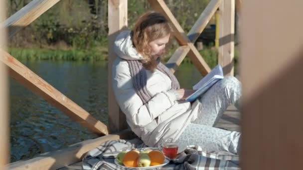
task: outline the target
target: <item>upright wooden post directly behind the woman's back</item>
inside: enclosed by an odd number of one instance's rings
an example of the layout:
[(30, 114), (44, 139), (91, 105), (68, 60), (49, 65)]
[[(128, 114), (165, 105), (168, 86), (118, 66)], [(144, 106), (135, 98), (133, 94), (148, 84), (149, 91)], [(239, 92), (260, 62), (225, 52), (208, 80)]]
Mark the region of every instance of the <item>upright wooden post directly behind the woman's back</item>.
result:
[(120, 110), (112, 88), (112, 64), (117, 55), (114, 41), (123, 29), (127, 28), (127, 0), (108, 0), (108, 115), (111, 132), (127, 128), (125, 114)]

